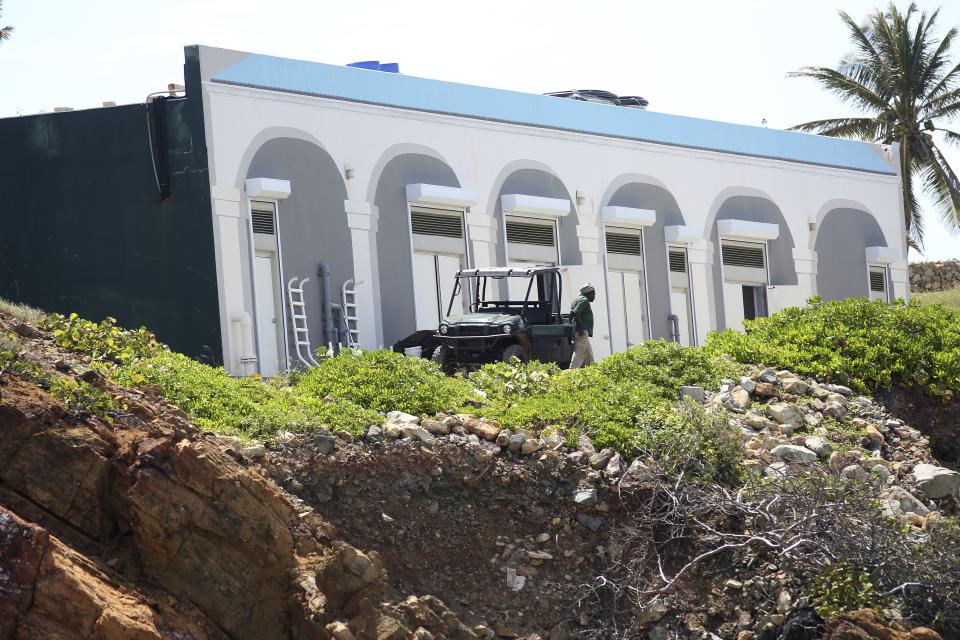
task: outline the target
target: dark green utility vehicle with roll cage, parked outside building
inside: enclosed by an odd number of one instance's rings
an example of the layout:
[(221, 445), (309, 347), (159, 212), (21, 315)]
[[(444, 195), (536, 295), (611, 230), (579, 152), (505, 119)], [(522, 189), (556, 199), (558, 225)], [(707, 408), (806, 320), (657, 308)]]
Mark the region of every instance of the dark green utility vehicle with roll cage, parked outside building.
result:
[[(433, 361), (445, 371), (513, 357), (569, 366), (576, 329), (561, 313), (557, 267), (463, 269), (456, 278), (447, 318), (434, 336), (439, 344)], [(525, 291), (522, 298), (519, 291)], [(516, 299), (498, 299), (501, 295)], [(466, 312), (454, 314), (461, 300), (469, 301)]]

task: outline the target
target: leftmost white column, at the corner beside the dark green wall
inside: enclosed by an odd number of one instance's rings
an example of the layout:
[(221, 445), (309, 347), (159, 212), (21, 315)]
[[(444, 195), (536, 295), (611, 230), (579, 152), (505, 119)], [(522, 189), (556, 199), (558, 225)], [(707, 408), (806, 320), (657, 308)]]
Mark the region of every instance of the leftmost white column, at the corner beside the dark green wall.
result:
[[(253, 309), (247, 293), (247, 199), (240, 189), (211, 187), (214, 253), (220, 303), (220, 335), (224, 367), (233, 375), (249, 375), (256, 362), (246, 362), (244, 344)], [(242, 321), (246, 318), (246, 322)]]

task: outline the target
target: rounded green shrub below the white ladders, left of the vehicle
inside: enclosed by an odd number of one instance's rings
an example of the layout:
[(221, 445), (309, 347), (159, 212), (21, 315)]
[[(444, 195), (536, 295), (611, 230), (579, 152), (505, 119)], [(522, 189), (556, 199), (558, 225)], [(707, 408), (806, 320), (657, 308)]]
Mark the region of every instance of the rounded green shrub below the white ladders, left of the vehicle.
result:
[(380, 412), (436, 414), (478, 398), (472, 385), (450, 378), (424, 358), (392, 351), (343, 351), (293, 379), (298, 396), (353, 402)]

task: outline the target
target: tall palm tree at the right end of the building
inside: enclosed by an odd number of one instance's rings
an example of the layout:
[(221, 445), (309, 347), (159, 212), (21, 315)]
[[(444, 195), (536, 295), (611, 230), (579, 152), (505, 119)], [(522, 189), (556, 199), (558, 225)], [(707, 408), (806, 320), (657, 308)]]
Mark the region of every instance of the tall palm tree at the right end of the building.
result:
[(936, 140), (960, 146), (960, 133), (941, 125), (960, 114), (960, 64), (949, 56), (957, 28), (934, 34), (939, 9), (929, 16), (910, 3), (901, 12), (891, 2), (863, 24), (841, 11), (854, 50), (836, 69), (803, 67), (789, 74), (812, 78), (865, 116), (831, 118), (793, 129), (883, 144), (900, 143), (903, 211), (907, 239), (923, 245), (922, 190), (948, 229), (960, 230), (960, 180)]

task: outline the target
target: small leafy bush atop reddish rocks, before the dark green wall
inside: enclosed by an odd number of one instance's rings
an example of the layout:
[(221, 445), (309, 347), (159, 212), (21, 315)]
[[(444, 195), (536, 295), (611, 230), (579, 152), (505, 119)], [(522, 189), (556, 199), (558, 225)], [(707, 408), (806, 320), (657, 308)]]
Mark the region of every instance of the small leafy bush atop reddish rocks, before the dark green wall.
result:
[(52, 313), (41, 318), (39, 325), (53, 332), (58, 347), (85, 353), (98, 361), (123, 364), (167, 350), (146, 328), (121, 329), (115, 318), (106, 318), (97, 324), (75, 313), (69, 316)]

